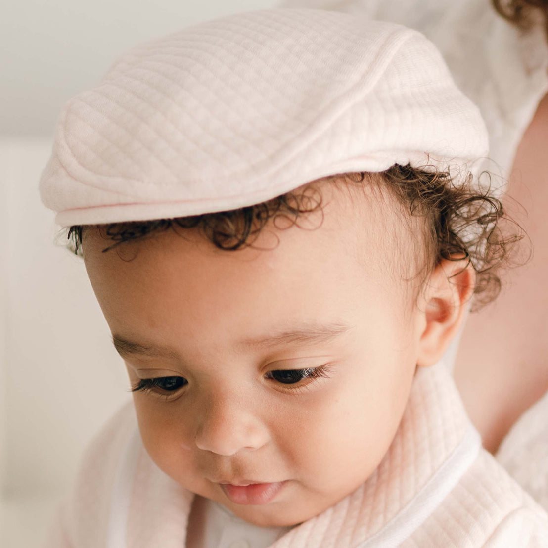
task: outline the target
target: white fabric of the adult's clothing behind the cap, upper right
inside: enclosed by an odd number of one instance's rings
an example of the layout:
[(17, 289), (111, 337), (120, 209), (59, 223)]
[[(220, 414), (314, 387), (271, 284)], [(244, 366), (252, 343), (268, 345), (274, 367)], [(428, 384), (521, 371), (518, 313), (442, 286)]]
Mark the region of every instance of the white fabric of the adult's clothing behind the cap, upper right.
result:
[(490, 0), (281, 0), (279, 7), (337, 10), (423, 33), (479, 107), (489, 133), (490, 160), (482, 169), (495, 175), (492, 190), (504, 194), (517, 146), (548, 92), (543, 25), (520, 32)]

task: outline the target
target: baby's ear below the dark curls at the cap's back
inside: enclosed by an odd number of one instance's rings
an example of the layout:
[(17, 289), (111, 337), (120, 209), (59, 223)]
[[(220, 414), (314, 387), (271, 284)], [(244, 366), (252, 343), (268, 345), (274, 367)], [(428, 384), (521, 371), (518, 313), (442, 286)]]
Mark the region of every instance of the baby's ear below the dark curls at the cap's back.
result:
[(418, 366), (432, 366), (442, 357), (466, 317), (475, 283), (468, 259), (442, 259), (433, 270), (420, 302)]

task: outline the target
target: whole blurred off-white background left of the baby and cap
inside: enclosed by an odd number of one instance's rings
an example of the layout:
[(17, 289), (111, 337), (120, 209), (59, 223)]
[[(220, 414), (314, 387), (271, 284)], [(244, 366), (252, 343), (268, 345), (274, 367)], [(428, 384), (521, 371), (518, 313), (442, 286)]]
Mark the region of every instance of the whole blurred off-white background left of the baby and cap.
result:
[(64, 103), (133, 45), (276, 0), (26, 0), (0, 18), (0, 546), (41, 546), (90, 437), (130, 399), (82, 259), (38, 195)]

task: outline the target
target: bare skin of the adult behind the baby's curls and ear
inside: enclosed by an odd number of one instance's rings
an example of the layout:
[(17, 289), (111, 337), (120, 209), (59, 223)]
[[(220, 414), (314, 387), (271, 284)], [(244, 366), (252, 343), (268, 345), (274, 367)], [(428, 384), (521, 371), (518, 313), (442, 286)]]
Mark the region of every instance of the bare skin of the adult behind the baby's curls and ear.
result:
[(518, 146), (503, 199), (504, 207), (530, 238), (524, 246), (532, 248), (533, 256), (509, 272), (493, 304), (467, 319), (455, 361), (455, 382), (491, 453), (496, 453), (512, 425), (548, 390), (547, 147), (545, 95)]

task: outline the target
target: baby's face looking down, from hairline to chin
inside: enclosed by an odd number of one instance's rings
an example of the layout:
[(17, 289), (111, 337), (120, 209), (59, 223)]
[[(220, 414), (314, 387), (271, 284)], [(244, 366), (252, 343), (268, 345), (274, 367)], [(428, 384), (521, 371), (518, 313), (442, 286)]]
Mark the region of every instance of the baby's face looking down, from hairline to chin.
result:
[(101, 253), (112, 242), (98, 232), (84, 235), (130, 383), (157, 381), (134, 392), (147, 452), (259, 526), (305, 521), (370, 476), (402, 417), (424, 328), (381, 259), (395, 248), (378, 227), (379, 198), (358, 207), (321, 190), (321, 227), (310, 230), (319, 214), (270, 227), (255, 242), (269, 250), (219, 250), (181, 229), (187, 239), (168, 231), (119, 256)]

